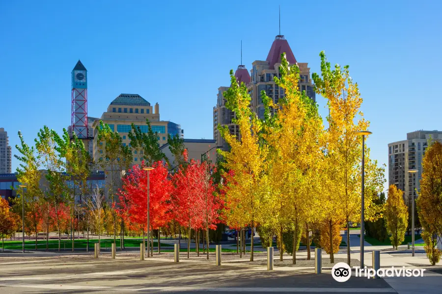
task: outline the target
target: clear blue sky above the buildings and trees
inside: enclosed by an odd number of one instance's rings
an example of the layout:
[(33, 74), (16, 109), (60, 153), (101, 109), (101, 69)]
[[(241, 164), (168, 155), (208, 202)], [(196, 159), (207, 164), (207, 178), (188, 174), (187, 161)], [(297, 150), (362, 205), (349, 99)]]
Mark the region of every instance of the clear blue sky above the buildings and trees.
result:
[[(319, 72), (319, 52), (350, 65), (371, 122), (371, 157), (417, 129), (442, 130), (442, 1), (1, 1), (0, 127), (16, 153), (17, 131), (70, 124), (71, 71), (88, 70), (88, 113), (120, 93), (160, 104), (185, 138), (213, 138), (217, 89), (229, 70), (265, 60), (278, 34)], [(325, 99), (317, 96), (325, 117)], [(13, 158), (15, 172), (17, 160)]]

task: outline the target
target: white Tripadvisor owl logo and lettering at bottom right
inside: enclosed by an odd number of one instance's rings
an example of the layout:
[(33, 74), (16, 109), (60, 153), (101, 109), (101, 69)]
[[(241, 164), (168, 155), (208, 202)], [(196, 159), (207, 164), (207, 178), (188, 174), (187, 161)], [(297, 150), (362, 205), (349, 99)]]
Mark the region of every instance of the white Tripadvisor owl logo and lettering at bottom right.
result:
[[(353, 267), (355, 270), (355, 276), (357, 277), (366, 277), (366, 278), (374, 278), (376, 276), (383, 277), (423, 277), (423, 272), (425, 269), (406, 269), (402, 268), (386, 268), (375, 270), (372, 268), (367, 269), (364, 267), (361, 269), (360, 267)], [(352, 269), (350, 266), (344, 262), (338, 262), (331, 269), (331, 276), (338, 282), (346, 282), (352, 276)]]

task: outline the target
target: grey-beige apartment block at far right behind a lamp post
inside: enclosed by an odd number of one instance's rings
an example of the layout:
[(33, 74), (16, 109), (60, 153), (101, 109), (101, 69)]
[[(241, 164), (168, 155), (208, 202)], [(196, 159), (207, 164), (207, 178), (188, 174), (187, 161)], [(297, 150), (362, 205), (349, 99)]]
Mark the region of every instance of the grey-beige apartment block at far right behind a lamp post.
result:
[[(404, 191), (407, 204), (413, 194), (416, 196), (415, 190), (420, 192), (422, 159), (430, 138), (442, 142), (442, 132), (419, 130), (407, 133), (407, 140), (388, 144), (388, 185), (396, 185)], [(410, 173), (409, 170), (417, 172)]]

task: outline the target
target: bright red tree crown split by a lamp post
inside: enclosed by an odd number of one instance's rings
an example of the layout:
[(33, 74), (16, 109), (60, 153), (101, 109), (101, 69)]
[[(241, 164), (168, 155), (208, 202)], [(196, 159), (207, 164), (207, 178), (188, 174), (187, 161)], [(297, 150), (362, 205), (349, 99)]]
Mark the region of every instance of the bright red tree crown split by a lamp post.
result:
[[(123, 179), (123, 189), (119, 191), (120, 208), (118, 214), (127, 224), (142, 225), (147, 230), (147, 171), (134, 166)], [(158, 229), (170, 221), (170, 195), (172, 183), (167, 178), (167, 168), (161, 162), (152, 166), (149, 172), (149, 220), (153, 229)]]

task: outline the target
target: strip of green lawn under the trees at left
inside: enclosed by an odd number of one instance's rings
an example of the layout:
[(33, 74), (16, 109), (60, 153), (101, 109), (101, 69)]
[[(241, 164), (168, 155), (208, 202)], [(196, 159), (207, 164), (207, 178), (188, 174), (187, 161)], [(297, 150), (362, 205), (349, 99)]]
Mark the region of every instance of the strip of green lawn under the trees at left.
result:
[[(86, 248), (86, 239), (76, 239), (74, 247), (75, 248)], [(98, 239), (89, 239), (89, 248), (94, 247), (94, 243), (98, 243)], [(101, 240), (101, 248), (111, 247), (113, 243), (113, 239), (102, 239)], [(124, 238), (124, 245), (126, 247), (139, 247), (139, 244), (142, 243), (142, 239), (126, 239)], [(1, 245), (1, 244), (0, 244)], [(116, 239), (116, 246), (120, 246), (120, 239)], [(158, 246), (158, 242), (154, 241), (154, 247)], [(162, 243), (161, 247), (173, 247), (171, 244)], [(4, 241), (5, 249), (21, 249), (22, 241)], [(37, 241), (38, 249), (46, 249), (46, 240), (38, 240)], [(50, 249), (58, 249), (58, 240), (49, 240), (49, 248)], [(61, 249), (72, 249), (72, 241), (71, 240), (61, 240)], [(25, 249), (32, 250), (35, 249), (35, 240), (25, 240)]]

